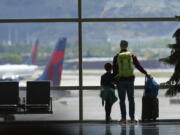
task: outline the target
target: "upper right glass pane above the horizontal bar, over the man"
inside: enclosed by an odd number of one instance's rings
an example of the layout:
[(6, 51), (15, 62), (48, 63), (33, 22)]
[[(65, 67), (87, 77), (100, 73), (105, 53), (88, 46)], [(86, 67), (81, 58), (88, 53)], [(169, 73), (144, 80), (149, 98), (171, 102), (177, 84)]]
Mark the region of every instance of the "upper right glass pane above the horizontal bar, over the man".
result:
[(172, 17), (180, 14), (179, 0), (82, 0), (85, 18)]

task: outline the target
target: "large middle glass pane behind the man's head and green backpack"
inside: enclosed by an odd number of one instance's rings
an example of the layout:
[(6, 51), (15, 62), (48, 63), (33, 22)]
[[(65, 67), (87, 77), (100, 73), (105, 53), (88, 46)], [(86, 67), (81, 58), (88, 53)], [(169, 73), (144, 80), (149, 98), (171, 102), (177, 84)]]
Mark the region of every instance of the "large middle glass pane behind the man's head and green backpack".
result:
[[(112, 63), (120, 51), (121, 40), (129, 42), (129, 50), (136, 54), (142, 66), (158, 82), (166, 81), (173, 70), (158, 59), (170, 54), (167, 45), (174, 43), (172, 35), (179, 28), (176, 22), (119, 22), (83, 24), (83, 85), (99, 85), (105, 72), (104, 64)], [(166, 69), (159, 74), (159, 70)], [(135, 70), (135, 85), (144, 85), (144, 75)]]

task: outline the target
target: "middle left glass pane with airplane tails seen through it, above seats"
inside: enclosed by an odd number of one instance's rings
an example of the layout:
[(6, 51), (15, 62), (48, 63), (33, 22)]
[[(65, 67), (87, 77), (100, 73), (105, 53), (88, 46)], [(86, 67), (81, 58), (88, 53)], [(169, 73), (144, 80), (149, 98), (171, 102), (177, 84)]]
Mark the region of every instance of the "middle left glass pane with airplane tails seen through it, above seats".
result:
[[(9, 64), (6, 71), (0, 71), (2, 80), (14, 79), (20, 81), (20, 86), (26, 86), (26, 81), (36, 80), (44, 71), (48, 72), (46, 68), (48, 62), (60, 57), (54, 66), (63, 60), (63, 70), (54, 71), (54, 74), (60, 74), (61, 80), (59, 82), (58, 79), (52, 79), (52, 82), (58, 82), (53, 83), (53, 86), (79, 84), (76, 23), (4, 23), (0, 24), (0, 29), (0, 65)], [(69, 38), (69, 35), (72, 37)], [(61, 38), (66, 38), (65, 48), (57, 50), (56, 46), (63, 45), (63, 43), (58, 43)], [(32, 52), (35, 46), (37, 50)], [(64, 54), (55, 54), (56, 51)], [(53, 60), (50, 60), (51, 55), (55, 55)], [(73, 62), (74, 60), (76, 63)], [(26, 68), (24, 70), (19, 69), (23, 68), (23, 64), (29, 65), (27, 68), (24, 66)], [(49, 76), (54, 76), (54, 74)]]

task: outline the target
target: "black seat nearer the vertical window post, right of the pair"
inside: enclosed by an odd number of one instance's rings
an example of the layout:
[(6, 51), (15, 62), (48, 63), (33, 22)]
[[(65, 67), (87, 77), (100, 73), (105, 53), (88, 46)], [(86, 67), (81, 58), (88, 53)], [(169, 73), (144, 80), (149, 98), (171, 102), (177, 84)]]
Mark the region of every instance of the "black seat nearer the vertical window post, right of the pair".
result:
[(28, 81), (26, 90), (28, 113), (52, 113), (49, 81)]

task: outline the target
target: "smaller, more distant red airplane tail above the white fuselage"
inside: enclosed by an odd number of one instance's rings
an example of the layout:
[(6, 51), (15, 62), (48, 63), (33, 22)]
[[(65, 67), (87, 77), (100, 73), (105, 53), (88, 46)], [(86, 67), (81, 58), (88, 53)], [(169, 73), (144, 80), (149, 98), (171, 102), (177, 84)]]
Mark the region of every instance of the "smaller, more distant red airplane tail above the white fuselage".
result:
[(36, 65), (37, 64), (37, 51), (38, 51), (39, 40), (37, 39), (32, 49), (31, 56), (27, 60), (26, 64)]

